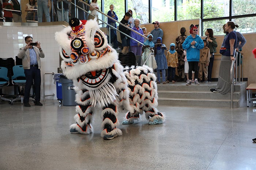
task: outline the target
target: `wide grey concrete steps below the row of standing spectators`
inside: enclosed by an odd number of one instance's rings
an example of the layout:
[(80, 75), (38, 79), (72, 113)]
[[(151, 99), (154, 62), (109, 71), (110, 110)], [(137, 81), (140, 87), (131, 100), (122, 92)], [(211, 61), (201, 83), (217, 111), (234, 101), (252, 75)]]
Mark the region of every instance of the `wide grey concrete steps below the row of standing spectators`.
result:
[[(158, 84), (158, 105), (160, 106), (191, 106), (191, 107), (231, 107), (231, 93), (213, 93), (210, 88), (214, 88), (217, 82), (192, 83), (186, 86), (185, 82), (175, 84)], [(247, 82), (234, 85), (233, 107), (242, 107), (246, 102)]]

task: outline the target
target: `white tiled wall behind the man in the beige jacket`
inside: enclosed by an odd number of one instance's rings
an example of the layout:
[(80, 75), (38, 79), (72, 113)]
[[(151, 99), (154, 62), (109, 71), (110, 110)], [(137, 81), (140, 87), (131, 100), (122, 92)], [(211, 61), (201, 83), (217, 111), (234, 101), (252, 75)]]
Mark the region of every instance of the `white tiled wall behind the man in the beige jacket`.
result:
[[(39, 41), (45, 53), (45, 58), (41, 59), (41, 100), (43, 100), (43, 74), (57, 73), (59, 67), (59, 45), (54, 39), (54, 33), (63, 29), (62, 25), (54, 26), (0, 26), (0, 57), (14, 58), (19, 52), (19, 48), (26, 45), (24, 38), (28, 35), (34, 41)], [(13, 88), (3, 89), (5, 94), (13, 93)], [(53, 75), (45, 75), (45, 99), (56, 98), (56, 85), (53, 83)]]

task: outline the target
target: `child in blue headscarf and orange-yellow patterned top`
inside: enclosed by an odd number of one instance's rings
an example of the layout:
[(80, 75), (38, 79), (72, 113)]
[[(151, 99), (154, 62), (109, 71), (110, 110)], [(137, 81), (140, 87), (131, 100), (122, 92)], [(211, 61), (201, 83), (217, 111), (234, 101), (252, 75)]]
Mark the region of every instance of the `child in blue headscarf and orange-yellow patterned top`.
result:
[(175, 51), (175, 44), (170, 44), (170, 50), (167, 51), (166, 54), (167, 59), (167, 83), (172, 81), (172, 83), (175, 83), (175, 73), (176, 73), (176, 67), (178, 67), (178, 53)]

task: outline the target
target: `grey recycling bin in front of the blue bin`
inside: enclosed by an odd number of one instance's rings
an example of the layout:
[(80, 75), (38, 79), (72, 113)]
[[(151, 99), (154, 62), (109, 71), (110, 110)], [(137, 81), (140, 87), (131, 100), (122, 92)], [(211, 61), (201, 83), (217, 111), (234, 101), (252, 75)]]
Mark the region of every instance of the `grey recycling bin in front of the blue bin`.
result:
[(64, 75), (60, 76), (59, 82), (62, 84), (62, 104), (63, 106), (76, 106), (73, 81), (67, 79)]

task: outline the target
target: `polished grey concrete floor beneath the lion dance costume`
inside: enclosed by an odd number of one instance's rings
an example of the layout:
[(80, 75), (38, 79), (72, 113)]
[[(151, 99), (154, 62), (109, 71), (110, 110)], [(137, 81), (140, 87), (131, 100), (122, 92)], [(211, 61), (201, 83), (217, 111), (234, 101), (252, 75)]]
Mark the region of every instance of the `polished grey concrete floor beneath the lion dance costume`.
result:
[[(120, 125), (123, 136), (70, 134), (74, 106), (47, 100), (44, 106), (0, 104), (0, 169), (10, 170), (254, 170), (256, 107), (159, 106), (163, 124)], [(124, 114), (120, 114), (123, 120)]]

